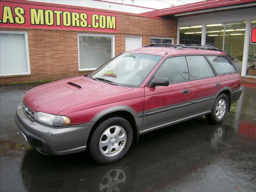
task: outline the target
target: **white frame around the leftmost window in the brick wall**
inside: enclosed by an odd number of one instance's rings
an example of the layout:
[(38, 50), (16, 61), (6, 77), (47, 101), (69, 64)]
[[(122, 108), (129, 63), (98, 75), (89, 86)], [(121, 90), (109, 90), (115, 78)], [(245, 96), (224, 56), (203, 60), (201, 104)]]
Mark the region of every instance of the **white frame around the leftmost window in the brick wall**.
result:
[(0, 30), (1, 34), (24, 34), (25, 37), (25, 48), (26, 48), (26, 59), (27, 59), (27, 68), (28, 72), (22, 72), (22, 73), (8, 73), (8, 74), (0, 74), (0, 76), (19, 76), (19, 75), (31, 75), (30, 70), (30, 58), (29, 58), (29, 48), (28, 48), (28, 32), (27, 31), (5, 31)]

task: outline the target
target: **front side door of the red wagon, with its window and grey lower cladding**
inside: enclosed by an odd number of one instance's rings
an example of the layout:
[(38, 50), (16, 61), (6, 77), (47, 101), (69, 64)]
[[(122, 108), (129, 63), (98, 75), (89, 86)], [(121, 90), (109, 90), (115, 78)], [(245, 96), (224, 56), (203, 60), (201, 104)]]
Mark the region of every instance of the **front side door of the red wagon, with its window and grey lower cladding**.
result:
[(167, 58), (154, 75), (156, 78), (168, 78), (170, 84), (145, 87), (143, 130), (162, 128), (188, 116), (191, 83), (185, 57)]

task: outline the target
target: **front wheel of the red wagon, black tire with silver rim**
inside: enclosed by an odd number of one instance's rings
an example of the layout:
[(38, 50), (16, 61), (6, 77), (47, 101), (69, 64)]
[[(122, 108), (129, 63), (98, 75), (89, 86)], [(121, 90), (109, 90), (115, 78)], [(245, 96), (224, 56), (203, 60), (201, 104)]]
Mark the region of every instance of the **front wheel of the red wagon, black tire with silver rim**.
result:
[(88, 143), (89, 154), (100, 164), (116, 162), (128, 152), (132, 137), (132, 126), (126, 119), (108, 118), (94, 130)]

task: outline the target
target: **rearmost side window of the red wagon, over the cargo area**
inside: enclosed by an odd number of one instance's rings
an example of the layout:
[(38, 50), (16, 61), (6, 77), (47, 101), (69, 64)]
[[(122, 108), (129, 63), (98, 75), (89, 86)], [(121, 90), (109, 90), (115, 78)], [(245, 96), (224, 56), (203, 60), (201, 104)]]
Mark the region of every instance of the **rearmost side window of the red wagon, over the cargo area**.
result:
[(223, 56), (206, 56), (218, 74), (236, 72), (234, 66)]

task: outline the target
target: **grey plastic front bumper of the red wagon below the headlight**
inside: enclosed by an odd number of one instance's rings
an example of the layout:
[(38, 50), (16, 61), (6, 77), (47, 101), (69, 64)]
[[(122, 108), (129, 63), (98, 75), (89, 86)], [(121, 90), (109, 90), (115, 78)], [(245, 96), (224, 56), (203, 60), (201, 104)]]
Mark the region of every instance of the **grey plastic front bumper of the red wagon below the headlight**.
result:
[(64, 155), (86, 150), (86, 143), (94, 122), (67, 128), (52, 128), (31, 121), (21, 106), (14, 116), (16, 124), (30, 145), (45, 155)]

